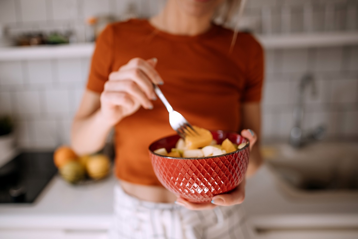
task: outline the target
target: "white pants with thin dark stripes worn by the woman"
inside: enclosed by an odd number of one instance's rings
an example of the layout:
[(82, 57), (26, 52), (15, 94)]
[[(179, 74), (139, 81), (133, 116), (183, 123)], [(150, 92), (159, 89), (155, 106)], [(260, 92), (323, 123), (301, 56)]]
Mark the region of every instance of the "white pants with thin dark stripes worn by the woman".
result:
[(240, 205), (193, 211), (141, 201), (115, 186), (111, 239), (248, 239)]

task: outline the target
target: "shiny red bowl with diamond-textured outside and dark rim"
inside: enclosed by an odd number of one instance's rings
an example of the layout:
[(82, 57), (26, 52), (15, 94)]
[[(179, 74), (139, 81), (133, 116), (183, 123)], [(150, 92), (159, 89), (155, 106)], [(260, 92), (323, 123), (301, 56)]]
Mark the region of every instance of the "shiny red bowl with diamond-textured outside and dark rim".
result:
[[(226, 138), (235, 144), (248, 142), (234, 132), (217, 130), (211, 133), (218, 144)], [(249, 144), (240, 150), (214, 157), (175, 158), (153, 152), (159, 148), (166, 148), (170, 152), (178, 139), (179, 135), (173, 135), (149, 146), (155, 175), (175, 195), (191, 202), (209, 202), (213, 196), (233, 190), (245, 177)]]

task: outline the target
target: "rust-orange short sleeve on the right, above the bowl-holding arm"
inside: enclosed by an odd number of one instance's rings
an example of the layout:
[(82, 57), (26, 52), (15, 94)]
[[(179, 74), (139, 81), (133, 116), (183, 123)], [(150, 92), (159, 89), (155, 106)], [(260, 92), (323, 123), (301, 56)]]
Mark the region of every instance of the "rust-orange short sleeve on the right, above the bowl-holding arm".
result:
[(259, 102), (262, 95), (264, 76), (264, 57), (261, 45), (255, 40), (250, 52), (246, 71), (245, 88), (242, 102)]

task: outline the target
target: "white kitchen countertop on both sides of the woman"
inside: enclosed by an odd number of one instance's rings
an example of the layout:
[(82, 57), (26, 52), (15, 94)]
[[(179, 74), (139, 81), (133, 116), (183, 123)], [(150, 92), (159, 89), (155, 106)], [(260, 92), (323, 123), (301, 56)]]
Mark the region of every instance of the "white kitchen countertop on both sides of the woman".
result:
[[(103, 181), (73, 186), (55, 176), (31, 205), (0, 204), (0, 229), (108, 229), (111, 223), (112, 175)], [(247, 181), (243, 203), (256, 228), (358, 228), (358, 200), (292, 200), (277, 187), (267, 166)]]

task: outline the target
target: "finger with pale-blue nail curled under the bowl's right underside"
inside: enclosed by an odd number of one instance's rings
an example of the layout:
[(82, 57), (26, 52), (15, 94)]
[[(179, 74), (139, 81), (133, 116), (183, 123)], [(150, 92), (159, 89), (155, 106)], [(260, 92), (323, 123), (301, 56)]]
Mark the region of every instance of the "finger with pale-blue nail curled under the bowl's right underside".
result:
[(213, 197), (214, 205), (231, 206), (241, 204), (245, 199), (245, 179), (233, 191)]

